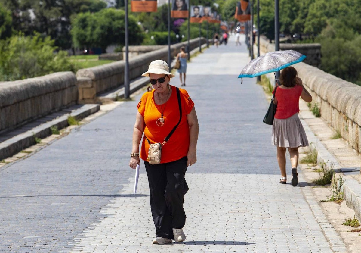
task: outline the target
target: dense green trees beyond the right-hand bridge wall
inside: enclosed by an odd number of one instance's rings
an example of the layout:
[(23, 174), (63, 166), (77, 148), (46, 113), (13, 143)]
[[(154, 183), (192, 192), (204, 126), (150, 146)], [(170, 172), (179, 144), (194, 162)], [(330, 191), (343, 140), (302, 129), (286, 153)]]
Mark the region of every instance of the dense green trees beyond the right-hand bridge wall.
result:
[[(260, 32), (274, 39), (274, 1), (260, 0)], [(280, 32), (321, 43), (321, 69), (361, 85), (361, 0), (280, 0)]]

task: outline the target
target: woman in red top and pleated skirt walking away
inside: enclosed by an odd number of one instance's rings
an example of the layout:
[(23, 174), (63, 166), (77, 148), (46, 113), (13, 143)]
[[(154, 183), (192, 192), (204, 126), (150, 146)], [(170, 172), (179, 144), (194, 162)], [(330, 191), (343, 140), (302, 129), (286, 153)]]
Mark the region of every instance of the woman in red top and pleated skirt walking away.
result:
[[(274, 92), (274, 91), (273, 91)], [(312, 96), (303, 86), (297, 70), (287, 67), (281, 71), (280, 85), (276, 89), (274, 103), (277, 104), (272, 128), (272, 144), (277, 146), (277, 160), (281, 171), (281, 184), (286, 184), (286, 148), (290, 153), (293, 186), (298, 184), (298, 148), (308, 146), (305, 130), (298, 117), (300, 97), (306, 102), (312, 101)]]

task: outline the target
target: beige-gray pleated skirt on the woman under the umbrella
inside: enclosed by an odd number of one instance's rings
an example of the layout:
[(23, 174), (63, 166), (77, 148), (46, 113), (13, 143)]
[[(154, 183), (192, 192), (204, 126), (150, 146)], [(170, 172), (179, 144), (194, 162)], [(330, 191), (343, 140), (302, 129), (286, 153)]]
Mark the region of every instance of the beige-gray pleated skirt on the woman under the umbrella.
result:
[(278, 147), (305, 147), (308, 140), (298, 113), (287, 119), (274, 119), (272, 145)]

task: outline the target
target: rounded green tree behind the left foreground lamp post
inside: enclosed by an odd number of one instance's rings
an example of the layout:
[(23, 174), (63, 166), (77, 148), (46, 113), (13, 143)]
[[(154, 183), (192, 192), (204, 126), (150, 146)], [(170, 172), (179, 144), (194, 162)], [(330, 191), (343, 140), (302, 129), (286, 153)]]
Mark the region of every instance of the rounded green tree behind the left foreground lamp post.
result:
[[(72, 21), (71, 35), (75, 47), (100, 47), (105, 52), (112, 44), (125, 41), (125, 12), (114, 8), (96, 13), (79, 13)], [(144, 38), (136, 19), (129, 15), (129, 44), (139, 45)]]

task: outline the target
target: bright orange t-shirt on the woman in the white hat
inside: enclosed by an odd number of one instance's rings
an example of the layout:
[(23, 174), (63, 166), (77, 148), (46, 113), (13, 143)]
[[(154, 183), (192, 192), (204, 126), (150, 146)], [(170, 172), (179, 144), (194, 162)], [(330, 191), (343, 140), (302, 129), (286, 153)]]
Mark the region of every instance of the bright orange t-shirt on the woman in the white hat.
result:
[[(145, 127), (144, 134), (151, 143), (163, 143), (164, 138), (177, 125), (179, 121), (179, 106), (176, 87), (171, 86), (172, 94), (165, 104), (161, 106), (154, 102), (154, 90), (146, 92), (138, 103), (138, 111), (144, 117)], [(194, 106), (192, 99), (186, 90), (180, 89), (182, 104), (182, 120), (169, 141), (162, 146), (161, 163), (173, 162), (187, 156), (189, 149), (189, 126), (187, 114)], [(162, 108), (162, 109), (161, 109)], [(156, 121), (161, 117), (163, 110), (164, 125), (159, 127)], [(149, 143), (143, 136), (142, 146), (140, 149), (140, 158), (147, 160)]]

